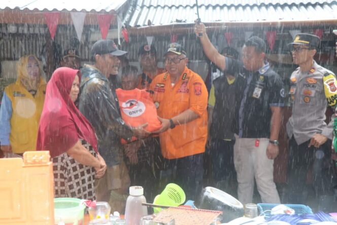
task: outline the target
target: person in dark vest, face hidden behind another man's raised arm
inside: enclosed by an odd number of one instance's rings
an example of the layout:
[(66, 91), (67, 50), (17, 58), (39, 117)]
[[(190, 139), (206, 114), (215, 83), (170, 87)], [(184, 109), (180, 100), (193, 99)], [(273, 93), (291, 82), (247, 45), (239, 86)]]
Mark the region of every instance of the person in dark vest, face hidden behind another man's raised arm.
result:
[[(221, 54), (233, 59), (239, 58), (239, 52), (231, 47), (224, 48)], [(234, 106), (238, 104), (233, 98), (237, 89), (235, 84), (235, 76), (229, 73), (213, 78), (208, 100), (208, 142), (213, 180), (217, 188), (232, 196), (237, 196), (238, 187), (233, 160), (235, 139), (232, 132)]]

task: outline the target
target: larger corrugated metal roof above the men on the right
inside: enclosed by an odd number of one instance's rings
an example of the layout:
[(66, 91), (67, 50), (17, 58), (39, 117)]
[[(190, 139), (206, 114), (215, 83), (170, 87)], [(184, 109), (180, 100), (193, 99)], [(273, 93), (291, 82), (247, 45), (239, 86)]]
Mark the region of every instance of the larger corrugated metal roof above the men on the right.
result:
[[(332, 0), (199, 0), (203, 22), (305, 21), (337, 19), (337, 2)], [(138, 0), (126, 24), (146, 26), (193, 23), (195, 0)]]

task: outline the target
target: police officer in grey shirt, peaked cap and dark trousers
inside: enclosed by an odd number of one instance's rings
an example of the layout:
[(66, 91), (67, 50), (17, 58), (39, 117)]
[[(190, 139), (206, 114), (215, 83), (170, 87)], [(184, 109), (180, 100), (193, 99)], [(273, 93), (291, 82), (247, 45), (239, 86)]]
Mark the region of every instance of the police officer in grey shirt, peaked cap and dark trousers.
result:
[[(331, 163), (333, 120), (325, 123), (325, 111), (336, 104), (335, 75), (313, 59), (320, 39), (298, 34), (289, 44), (293, 62), (299, 67), (291, 74), (292, 116), (287, 123), (289, 137), (288, 201), (306, 204), (306, 180), (313, 170), (313, 186), (320, 208), (333, 205), (334, 167)], [(326, 201), (330, 201), (327, 203)], [(335, 207), (335, 206), (334, 206)]]

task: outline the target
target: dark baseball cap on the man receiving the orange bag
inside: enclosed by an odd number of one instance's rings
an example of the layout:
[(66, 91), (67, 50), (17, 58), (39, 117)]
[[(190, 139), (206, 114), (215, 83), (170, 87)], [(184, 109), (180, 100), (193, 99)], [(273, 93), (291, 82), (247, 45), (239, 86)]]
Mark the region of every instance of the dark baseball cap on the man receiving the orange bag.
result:
[(110, 54), (115, 56), (121, 56), (126, 54), (126, 51), (118, 50), (117, 45), (113, 40), (98, 40), (91, 47), (91, 56)]

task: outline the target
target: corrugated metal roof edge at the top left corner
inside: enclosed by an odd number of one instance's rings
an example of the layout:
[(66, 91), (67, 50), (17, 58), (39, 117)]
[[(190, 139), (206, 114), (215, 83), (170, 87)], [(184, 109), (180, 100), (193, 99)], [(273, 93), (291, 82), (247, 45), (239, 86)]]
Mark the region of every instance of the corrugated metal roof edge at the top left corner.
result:
[(40, 11), (117, 11), (127, 0), (2, 0), (0, 1), (0, 9), (38, 9)]

